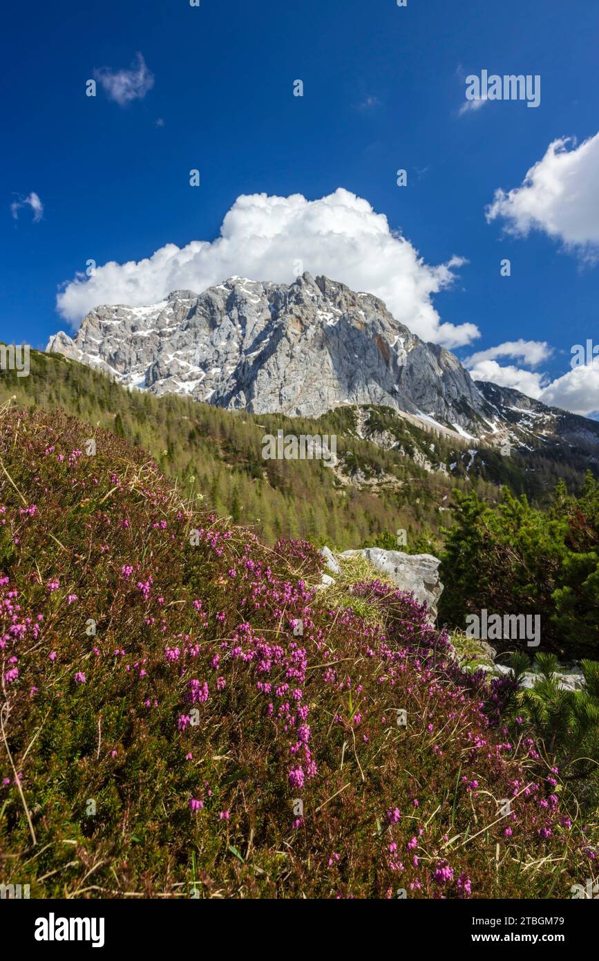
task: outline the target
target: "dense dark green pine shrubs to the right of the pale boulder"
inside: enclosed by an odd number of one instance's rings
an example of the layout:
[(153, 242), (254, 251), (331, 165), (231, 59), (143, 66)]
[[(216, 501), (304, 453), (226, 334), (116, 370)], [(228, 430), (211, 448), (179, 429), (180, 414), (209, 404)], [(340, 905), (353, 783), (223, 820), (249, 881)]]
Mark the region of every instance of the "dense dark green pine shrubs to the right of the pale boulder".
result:
[(483, 608), (539, 614), (541, 651), (599, 659), (599, 482), (588, 473), (578, 498), (559, 484), (549, 511), (507, 488), (497, 505), (459, 491), (454, 505), (442, 554), (442, 622), (464, 628), (467, 614)]

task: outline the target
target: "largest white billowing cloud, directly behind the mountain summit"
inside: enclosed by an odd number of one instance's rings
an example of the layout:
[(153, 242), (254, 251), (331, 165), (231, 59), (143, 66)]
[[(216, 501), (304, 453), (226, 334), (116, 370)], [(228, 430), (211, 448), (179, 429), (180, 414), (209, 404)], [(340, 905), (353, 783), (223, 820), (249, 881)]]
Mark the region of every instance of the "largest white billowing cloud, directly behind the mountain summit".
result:
[(458, 347), (480, 335), (477, 327), (443, 323), (432, 298), (464, 262), (425, 263), (384, 214), (341, 187), (312, 201), (259, 193), (237, 198), (214, 241), (166, 244), (146, 259), (110, 261), (90, 278), (77, 275), (63, 284), (57, 306), (76, 325), (100, 304), (154, 304), (172, 290), (201, 292), (235, 275), (292, 283), (307, 270), (375, 294), (423, 339)]

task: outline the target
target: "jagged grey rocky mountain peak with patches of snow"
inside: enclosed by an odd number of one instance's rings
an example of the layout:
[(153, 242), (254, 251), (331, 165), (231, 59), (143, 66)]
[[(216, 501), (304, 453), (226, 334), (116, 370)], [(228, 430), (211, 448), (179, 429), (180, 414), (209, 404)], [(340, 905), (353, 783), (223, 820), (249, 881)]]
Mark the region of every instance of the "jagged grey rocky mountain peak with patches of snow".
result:
[(46, 350), (131, 387), (254, 413), (374, 404), (462, 428), (493, 415), (457, 357), (371, 294), (307, 273), (289, 285), (233, 277), (153, 307), (98, 307)]

